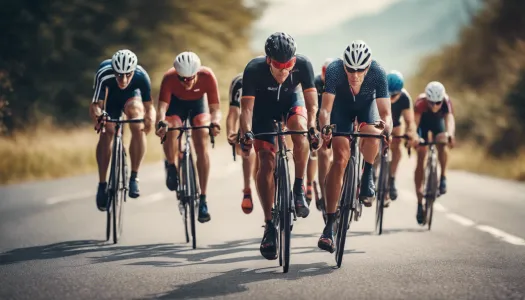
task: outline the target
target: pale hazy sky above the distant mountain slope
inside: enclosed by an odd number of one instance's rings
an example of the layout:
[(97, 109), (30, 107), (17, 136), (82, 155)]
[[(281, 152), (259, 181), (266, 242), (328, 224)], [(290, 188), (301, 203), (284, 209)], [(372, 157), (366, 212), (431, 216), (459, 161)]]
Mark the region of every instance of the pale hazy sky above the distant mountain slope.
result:
[(268, 0), (271, 4), (257, 27), (292, 35), (315, 33), (397, 1), (403, 0)]

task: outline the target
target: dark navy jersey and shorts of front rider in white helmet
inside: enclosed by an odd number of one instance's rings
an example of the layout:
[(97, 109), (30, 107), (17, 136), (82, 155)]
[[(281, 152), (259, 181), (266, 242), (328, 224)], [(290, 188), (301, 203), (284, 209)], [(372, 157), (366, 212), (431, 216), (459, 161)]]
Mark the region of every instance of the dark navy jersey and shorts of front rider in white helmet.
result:
[(389, 98), (386, 72), (373, 60), (365, 75), (361, 89), (353, 94), (344, 70), (344, 63), (337, 59), (326, 68), (325, 92), (335, 95), (330, 120), (335, 131), (353, 131), (354, 119), (374, 123), (380, 119), (377, 98)]

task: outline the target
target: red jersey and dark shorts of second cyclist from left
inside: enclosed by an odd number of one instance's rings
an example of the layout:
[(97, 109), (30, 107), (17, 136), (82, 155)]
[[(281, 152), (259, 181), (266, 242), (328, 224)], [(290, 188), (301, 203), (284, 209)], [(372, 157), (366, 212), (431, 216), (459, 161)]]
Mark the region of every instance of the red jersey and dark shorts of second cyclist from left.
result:
[[(169, 105), (166, 119), (183, 122), (189, 116), (192, 126), (200, 126), (204, 125), (203, 120), (209, 118), (204, 103), (204, 94), (208, 98), (208, 104), (219, 103), (217, 79), (210, 68), (201, 67), (197, 72), (197, 82), (190, 90), (186, 90), (179, 80), (177, 70), (172, 67), (162, 78), (159, 102)], [(199, 124), (194, 123), (197, 119)]]

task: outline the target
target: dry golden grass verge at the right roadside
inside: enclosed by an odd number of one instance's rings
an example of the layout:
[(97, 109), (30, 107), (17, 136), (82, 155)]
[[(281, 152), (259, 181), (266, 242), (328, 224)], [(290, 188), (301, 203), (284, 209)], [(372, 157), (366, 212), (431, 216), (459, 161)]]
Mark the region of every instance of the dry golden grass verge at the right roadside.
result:
[(462, 145), (451, 152), (450, 168), (525, 181), (525, 152), (517, 157), (495, 159), (479, 146)]

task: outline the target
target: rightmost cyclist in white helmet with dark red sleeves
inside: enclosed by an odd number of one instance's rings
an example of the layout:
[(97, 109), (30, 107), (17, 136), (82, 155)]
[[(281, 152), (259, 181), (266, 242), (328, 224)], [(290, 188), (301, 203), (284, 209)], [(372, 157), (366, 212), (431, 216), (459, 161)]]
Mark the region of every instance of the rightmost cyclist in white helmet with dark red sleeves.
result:
[[(452, 101), (445, 91), (441, 82), (432, 81), (425, 87), (425, 92), (420, 94), (414, 105), (414, 119), (417, 125), (419, 136), (428, 141), (428, 132), (432, 132), (432, 137), (437, 142), (450, 142), (450, 147), (455, 143), (455, 118), (452, 110)], [(428, 147), (419, 146), (417, 148), (417, 166), (415, 171), (415, 184), (417, 194), (417, 215), (419, 224), (425, 221), (423, 211), (423, 177), (426, 163)], [(439, 181), (439, 193), (447, 192), (447, 160), (448, 147), (437, 145), (439, 164), (441, 167), (441, 178)]]

